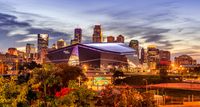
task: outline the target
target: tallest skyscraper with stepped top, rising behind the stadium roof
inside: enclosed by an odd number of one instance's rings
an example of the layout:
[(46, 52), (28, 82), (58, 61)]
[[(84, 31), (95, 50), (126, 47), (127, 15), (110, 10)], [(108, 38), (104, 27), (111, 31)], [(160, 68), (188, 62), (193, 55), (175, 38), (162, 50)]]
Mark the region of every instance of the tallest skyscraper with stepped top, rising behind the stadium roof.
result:
[(102, 42), (102, 32), (101, 32), (101, 25), (95, 25), (94, 26), (94, 33), (93, 33), (93, 36), (92, 36), (92, 41), (94, 43), (100, 43)]

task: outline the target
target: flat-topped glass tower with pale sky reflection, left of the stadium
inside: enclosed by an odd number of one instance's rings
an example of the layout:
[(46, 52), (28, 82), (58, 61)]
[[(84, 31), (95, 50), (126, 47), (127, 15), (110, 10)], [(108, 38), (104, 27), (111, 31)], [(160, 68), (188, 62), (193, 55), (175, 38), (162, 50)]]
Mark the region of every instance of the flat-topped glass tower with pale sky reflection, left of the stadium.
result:
[(38, 34), (38, 53), (42, 49), (47, 49), (49, 44), (49, 35), (48, 34)]

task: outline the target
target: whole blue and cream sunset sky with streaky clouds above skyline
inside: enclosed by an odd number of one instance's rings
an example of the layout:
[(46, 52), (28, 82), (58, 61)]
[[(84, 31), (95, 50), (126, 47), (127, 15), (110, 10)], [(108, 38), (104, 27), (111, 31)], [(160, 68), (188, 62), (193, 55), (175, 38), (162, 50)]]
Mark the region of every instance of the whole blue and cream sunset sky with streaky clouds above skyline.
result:
[(83, 29), (90, 42), (95, 24), (104, 37), (122, 34), (128, 43), (155, 44), (173, 56), (200, 59), (200, 0), (0, 0), (0, 51), (24, 49), (37, 33), (50, 34), (50, 46), (73, 29)]

